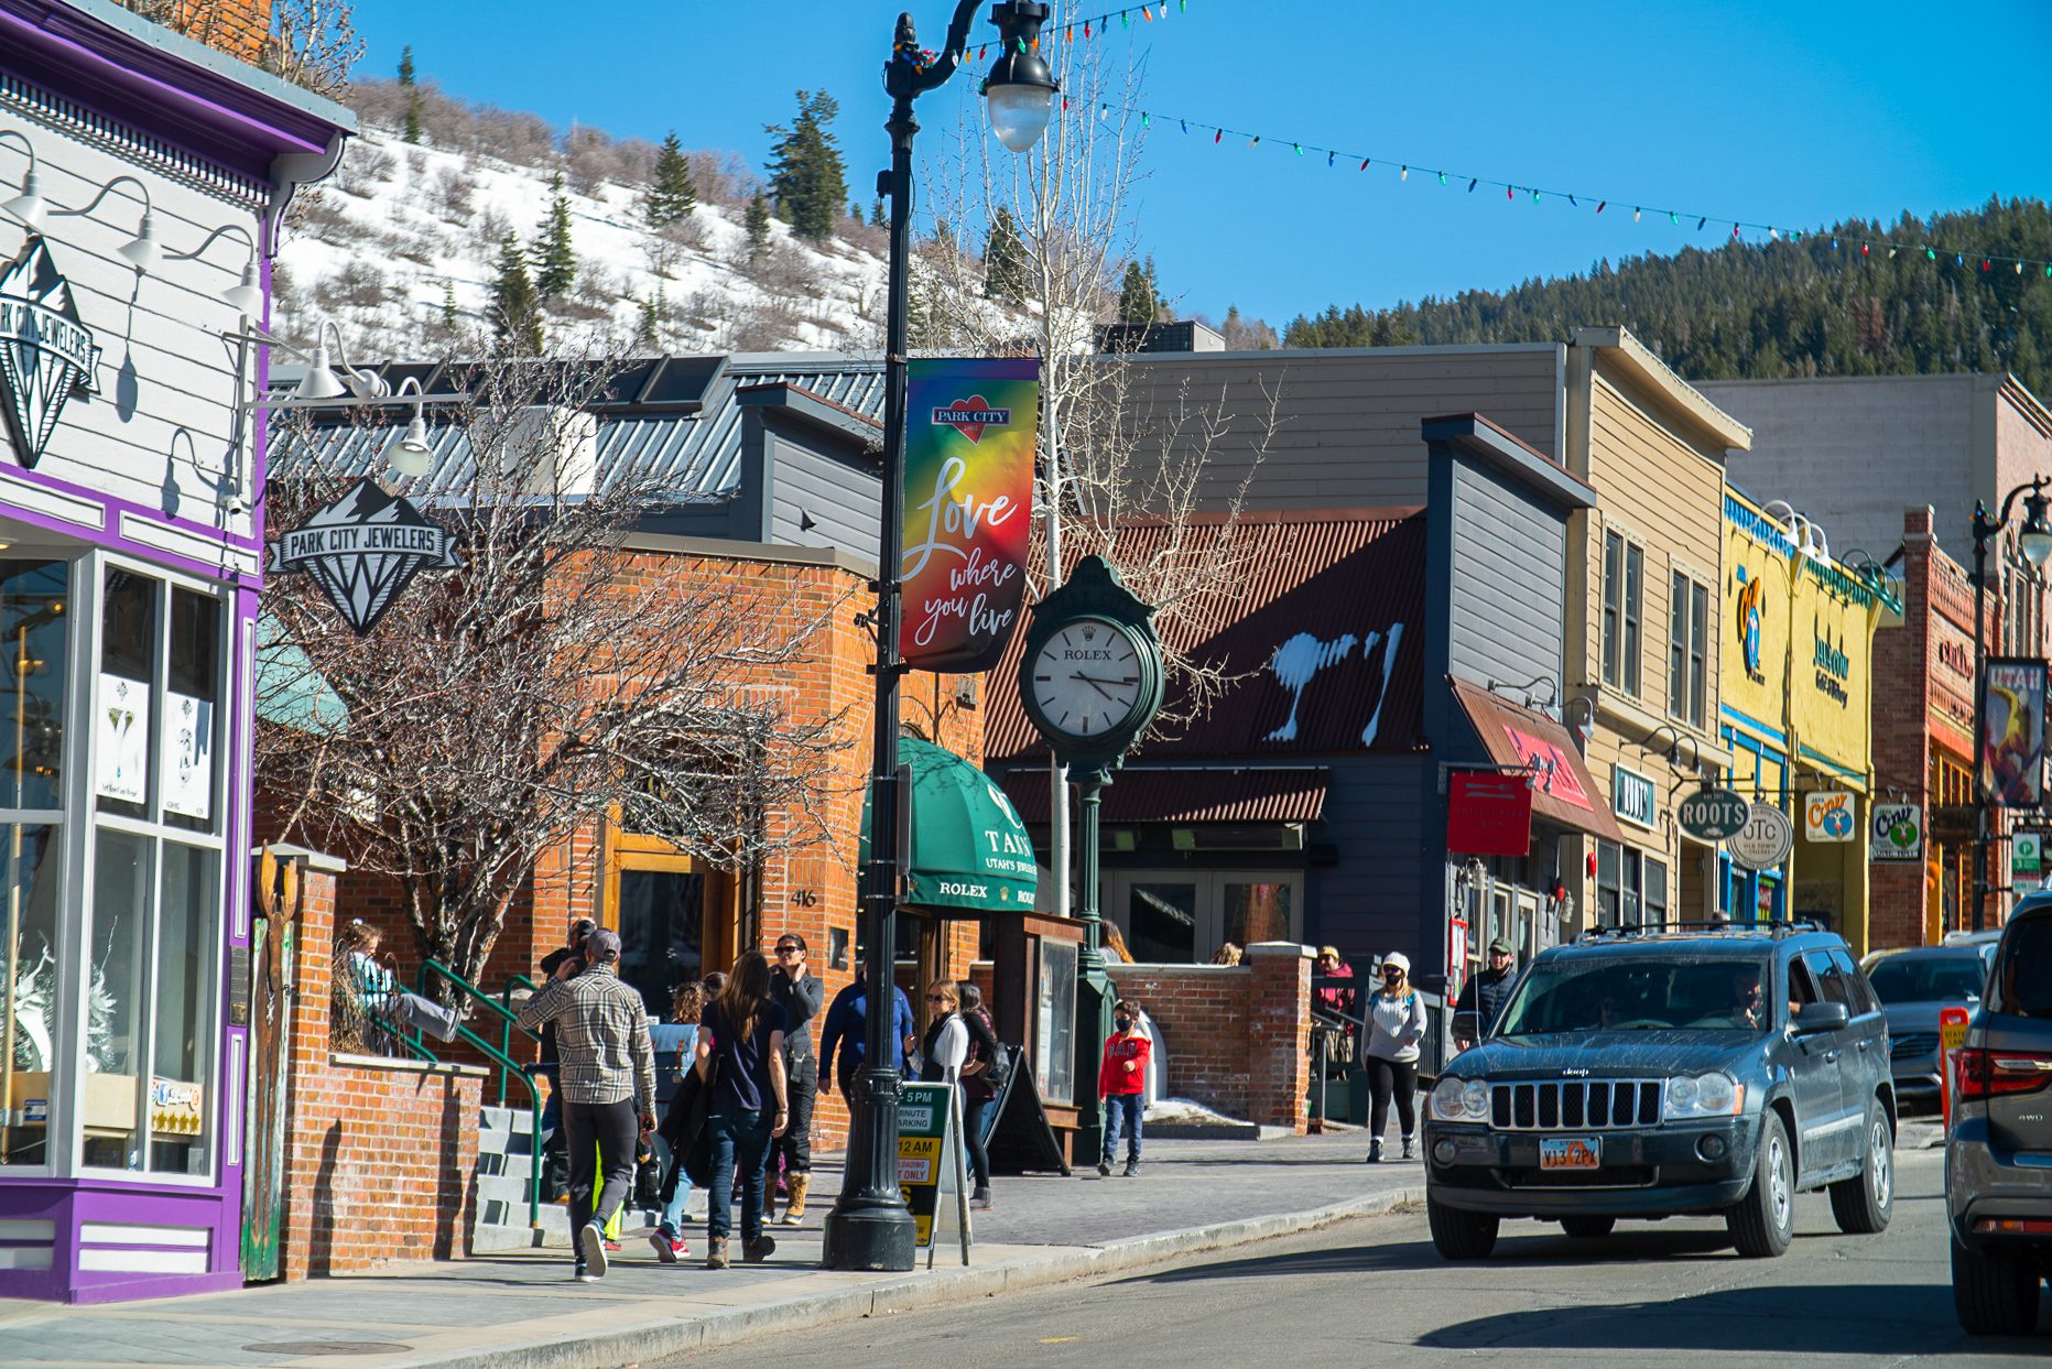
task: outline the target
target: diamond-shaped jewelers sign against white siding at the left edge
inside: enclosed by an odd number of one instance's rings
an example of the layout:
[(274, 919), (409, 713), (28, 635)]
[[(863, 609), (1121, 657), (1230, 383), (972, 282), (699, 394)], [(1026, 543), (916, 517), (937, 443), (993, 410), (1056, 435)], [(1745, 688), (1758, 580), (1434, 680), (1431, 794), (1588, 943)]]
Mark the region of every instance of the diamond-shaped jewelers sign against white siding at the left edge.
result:
[(72, 285), (43, 234), (0, 273), (0, 408), (23, 466), (35, 466), (64, 402), (98, 390), (101, 347), (78, 320)]

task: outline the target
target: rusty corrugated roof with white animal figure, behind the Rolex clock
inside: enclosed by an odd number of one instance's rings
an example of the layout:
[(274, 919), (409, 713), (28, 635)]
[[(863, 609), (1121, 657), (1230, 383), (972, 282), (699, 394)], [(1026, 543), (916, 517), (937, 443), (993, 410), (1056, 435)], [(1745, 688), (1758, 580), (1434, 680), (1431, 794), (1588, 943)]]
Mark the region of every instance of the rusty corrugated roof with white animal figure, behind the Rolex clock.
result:
[[(1170, 546), (1176, 530), (1133, 523), (1116, 534), (1129, 564)], [(1244, 675), (1184, 735), (1145, 743), (1141, 755), (1260, 757), (1346, 751), (1414, 751), (1424, 700), (1424, 515), (1416, 509), (1250, 515), (1207, 519), (1184, 544), (1190, 556), (1246, 564), (1237, 593), (1217, 595), (1157, 624), (1176, 651)], [(1012, 640), (985, 718), (985, 755), (1044, 755), (1020, 704)], [(1122, 782), (1122, 780), (1120, 780)]]

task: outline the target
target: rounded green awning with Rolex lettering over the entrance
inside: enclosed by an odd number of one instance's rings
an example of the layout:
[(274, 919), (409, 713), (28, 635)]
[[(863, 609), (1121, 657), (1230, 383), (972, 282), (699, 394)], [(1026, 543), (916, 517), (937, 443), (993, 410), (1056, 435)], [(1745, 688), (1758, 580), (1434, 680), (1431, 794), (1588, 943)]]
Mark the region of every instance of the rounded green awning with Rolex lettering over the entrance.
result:
[[(899, 739), (899, 766), (911, 772), (905, 905), (1032, 911), (1038, 887), (1032, 837), (1005, 792), (954, 751), (915, 737)], [(870, 805), (864, 798), (862, 860), (868, 856)]]

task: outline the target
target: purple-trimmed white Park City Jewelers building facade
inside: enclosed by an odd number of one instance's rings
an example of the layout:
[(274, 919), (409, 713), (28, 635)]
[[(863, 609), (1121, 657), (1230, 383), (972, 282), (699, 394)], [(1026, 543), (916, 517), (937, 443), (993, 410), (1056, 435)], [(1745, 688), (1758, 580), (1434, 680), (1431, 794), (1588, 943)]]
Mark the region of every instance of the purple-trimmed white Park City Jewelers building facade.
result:
[(269, 255), (355, 117), (0, 0), (0, 1295), (238, 1287)]

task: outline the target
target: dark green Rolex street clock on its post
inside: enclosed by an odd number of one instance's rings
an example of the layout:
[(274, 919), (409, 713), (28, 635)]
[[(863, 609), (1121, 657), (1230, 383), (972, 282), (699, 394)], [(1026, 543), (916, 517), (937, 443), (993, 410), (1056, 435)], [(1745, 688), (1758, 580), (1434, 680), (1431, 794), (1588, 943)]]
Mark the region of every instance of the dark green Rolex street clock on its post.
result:
[[(1096, 1098), (1098, 1051), (1112, 1030), (1112, 981), (1104, 973), (1098, 922), (1098, 803), (1127, 749), (1161, 712), (1161, 638), (1153, 608), (1118, 583), (1102, 556), (1088, 556), (1069, 583), (1034, 605), (1020, 661), (1026, 716), (1081, 790), (1075, 915), (1083, 946), (1075, 961), (1077, 1145), (1083, 1160), (1104, 1145)], [(1057, 870), (1057, 878), (1067, 878)]]

